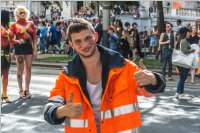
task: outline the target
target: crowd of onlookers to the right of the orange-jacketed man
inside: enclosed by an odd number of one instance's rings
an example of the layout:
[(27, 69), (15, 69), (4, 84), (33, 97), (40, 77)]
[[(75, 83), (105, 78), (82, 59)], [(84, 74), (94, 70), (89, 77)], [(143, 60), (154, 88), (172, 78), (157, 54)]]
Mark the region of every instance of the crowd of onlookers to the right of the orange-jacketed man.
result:
[[(155, 59), (161, 60), (162, 75), (166, 80), (173, 80), (172, 54), (174, 49), (181, 50), (184, 54), (195, 53), (191, 68), (175, 66), (179, 74), (177, 81), (176, 98), (183, 97), (184, 83), (189, 72), (191, 73), (191, 83), (195, 83), (195, 74), (200, 73), (200, 34), (196, 25), (186, 23), (182, 25), (181, 20), (177, 20), (177, 30), (173, 30), (170, 22), (165, 22), (165, 32), (159, 33), (158, 26), (153, 26), (151, 34), (142, 31), (138, 32), (137, 23), (132, 25), (129, 22), (122, 24), (121, 20), (115, 20), (114, 25), (109, 26), (109, 48), (120, 52), (125, 58), (136, 61), (140, 57), (139, 64), (143, 61), (144, 55), (153, 54)], [(142, 49), (148, 48), (148, 52)], [(166, 68), (168, 65), (168, 73)], [(166, 76), (168, 75), (168, 77)]]

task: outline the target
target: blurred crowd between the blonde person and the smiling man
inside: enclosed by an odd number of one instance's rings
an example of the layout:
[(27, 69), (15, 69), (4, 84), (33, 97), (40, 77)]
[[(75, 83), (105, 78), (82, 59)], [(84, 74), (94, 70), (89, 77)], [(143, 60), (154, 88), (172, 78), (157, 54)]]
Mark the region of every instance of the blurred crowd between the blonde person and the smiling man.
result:
[[(90, 18), (94, 15), (91, 7), (82, 7), (78, 12), (75, 12), (74, 18)], [(67, 27), (72, 19), (64, 19), (61, 17), (61, 11), (52, 7), (50, 20), (44, 16), (34, 16), (31, 17), (31, 21), (36, 26), (37, 46), (40, 54), (73, 54), (73, 49), (67, 41)]]

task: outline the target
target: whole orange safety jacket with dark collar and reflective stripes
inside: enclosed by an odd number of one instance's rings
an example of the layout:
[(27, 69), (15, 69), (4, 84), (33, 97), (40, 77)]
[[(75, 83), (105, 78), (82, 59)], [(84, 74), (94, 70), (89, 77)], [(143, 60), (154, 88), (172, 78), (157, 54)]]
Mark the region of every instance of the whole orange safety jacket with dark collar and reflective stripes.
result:
[[(98, 46), (98, 48), (100, 53), (105, 54), (105, 51), (107, 52), (106, 49), (103, 49), (100, 46)], [(102, 79), (103, 94), (100, 104), (101, 133), (139, 133), (141, 116), (137, 96), (144, 95), (149, 97), (154, 95), (153, 93), (163, 92), (163, 89), (165, 88), (164, 80), (156, 74), (158, 80), (157, 86), (139, 88), (134, 80), (134, 73), (139, 71), (140, 68), (132, 62), (124, 60), (117, 53), (111, 52), (108, 54), (110, 54), (109, 56), (111, 57), (105, 59), (114, 63), (110, 63), (111, 65), (107, 67), (109, 69), (107, 80), (105, 81), (104, 78)], [(103, 56), (103, 54), (101, 56)], [(73, 65), (77, 68), (77, 64), (72, 64), (68, 64), (68, 68)], [(104, 66), (104, 63), (102, 64)], [(79, 64), (79, 66), (81, 65)], [(52, 114), (55, 114), (57, 107), (55, 104), (54, 107), (53, 104), (51, 104), (51, 106), (47, 106), (45, 118), (51, 124), (58, 124), (64, 121), (65, 133), (97, 133), (95, 116), (88, 93), (86, 92), (87, 89), (84, 89), (84, 83), (81, 78), (77, 78), (74, 76), (76, 74), (72, 74), (77, 72), (75, 71), (75, 68), (73, 70), (65, 69), (65, 71), (60, 73), (56, 80), (55, 87), (50, 92), (48, 100), (50, 103), (64, 103), (65, 101), (68, 101), (70, 93), (73, 92), (73, 103), (81, 103), (83, 105), (82, 115), (76, 119), (66, 117), (60, 120), (60, 122), (57, 120), (56, 123), (56, 118), (48, 118), (49, 116), (52, 117)], [(78, 70), (78, 68), (76, 70)], [(104, 72), (103, 67), (103, 73)], [(149, 88), (149, 90), (152, 91), (146, 91), (146, 88)], [(54, 113), (52, 113), (53, 111)]]

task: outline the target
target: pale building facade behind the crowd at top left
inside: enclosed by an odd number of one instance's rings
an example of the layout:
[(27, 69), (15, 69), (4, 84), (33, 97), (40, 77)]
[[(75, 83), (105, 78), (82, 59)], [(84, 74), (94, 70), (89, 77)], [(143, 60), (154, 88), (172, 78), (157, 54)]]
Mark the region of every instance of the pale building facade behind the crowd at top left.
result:
[[(18, 5), (26, 6), (31, 11), (31, 16), (46, 15), (49, 18), (50, 7), (45, 10), (41, 4), (42, 1), (45, 0), (1, 0), (1, 9), (7, 9), (11, 12), (11, 21), (14, 21), (13, 12)], [(58, 1), (62, 5), (63, 11), (61, 16), (65, 19), (71, 18), (80, 6), (87, 5), (87, 2), (81, 1), (51, 0), (53, 7), (57, 7), (54, 1)]]

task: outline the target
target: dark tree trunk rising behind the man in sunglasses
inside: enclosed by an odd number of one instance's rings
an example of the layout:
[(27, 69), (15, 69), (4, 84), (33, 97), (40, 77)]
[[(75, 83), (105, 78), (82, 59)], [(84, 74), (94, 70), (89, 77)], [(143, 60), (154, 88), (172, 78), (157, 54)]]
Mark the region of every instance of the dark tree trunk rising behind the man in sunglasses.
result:
[(164, 22), (164, 14), (163, 14), (163, 3), (162, 1), (157, 1), (157, 13), (158, 13), (158, 31), (162, 33), (165, 31), (165, 22)]

